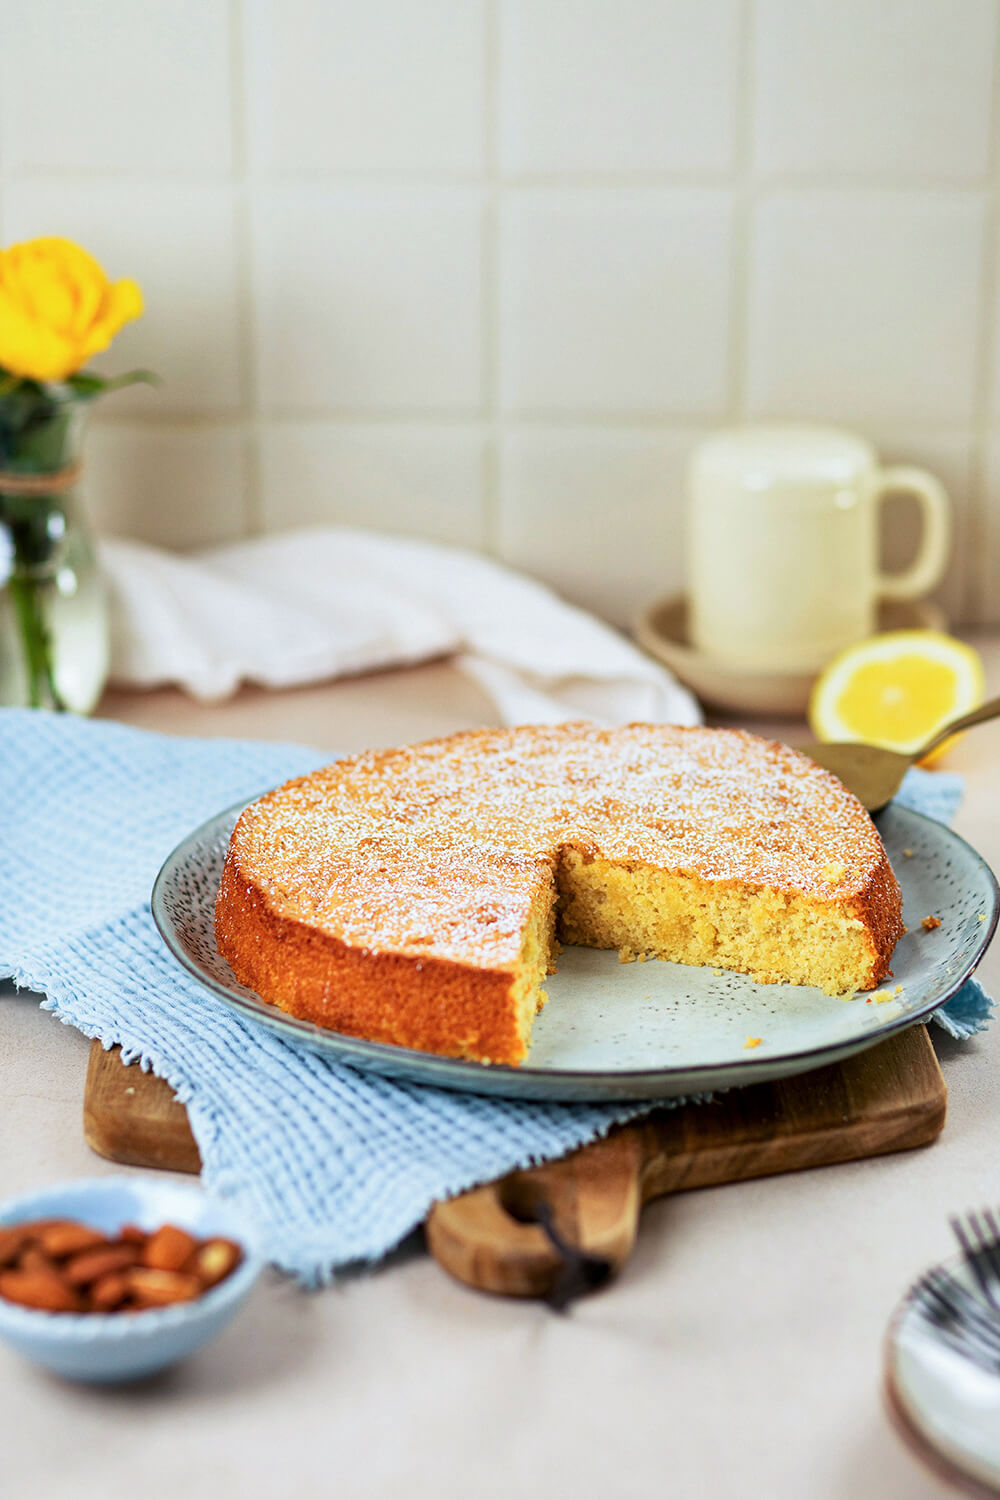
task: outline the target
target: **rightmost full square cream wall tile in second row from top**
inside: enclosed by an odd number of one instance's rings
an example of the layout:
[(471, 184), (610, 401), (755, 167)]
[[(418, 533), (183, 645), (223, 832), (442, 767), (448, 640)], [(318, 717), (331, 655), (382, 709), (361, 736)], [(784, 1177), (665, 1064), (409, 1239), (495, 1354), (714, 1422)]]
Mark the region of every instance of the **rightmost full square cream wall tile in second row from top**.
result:
[(765, 195), (750, 255), (754, 416), (970, 423), (985, 195)]

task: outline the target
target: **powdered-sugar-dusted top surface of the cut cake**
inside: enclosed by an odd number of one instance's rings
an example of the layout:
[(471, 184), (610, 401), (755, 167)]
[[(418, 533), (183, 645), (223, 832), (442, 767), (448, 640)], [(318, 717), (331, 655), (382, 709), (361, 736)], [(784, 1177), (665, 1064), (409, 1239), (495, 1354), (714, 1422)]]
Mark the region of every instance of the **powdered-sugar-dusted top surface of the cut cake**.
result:
[(369, 752), (261, 798), (232, 854), (276, 912), (352, 946), (502, 968), (565, 846), (831, 902), (885, 861), (861, 804), (805, 756), (669, 724)]

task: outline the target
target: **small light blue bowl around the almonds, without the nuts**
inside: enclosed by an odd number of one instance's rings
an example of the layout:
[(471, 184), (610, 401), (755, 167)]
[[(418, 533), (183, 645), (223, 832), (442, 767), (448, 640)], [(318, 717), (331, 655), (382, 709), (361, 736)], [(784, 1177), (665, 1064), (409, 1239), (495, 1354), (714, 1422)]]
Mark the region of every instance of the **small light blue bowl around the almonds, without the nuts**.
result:
[(223, 1198), (169, 1178), (82, 1178), (0, 1204), (0, 1224), (70, 1218), (105, 1234), (123, 1224), (177, 1224), (199, 1239), (220, 1234), (243, 1246), (237, 1269), (195, 1302), (147, 1312), (40, 1312), (0, 1298), (0, 1338), (25, 1359), (70, 1380), (136, 1380), (193, 1354), (220, 1334), (261, 1274), (243, 1218)]

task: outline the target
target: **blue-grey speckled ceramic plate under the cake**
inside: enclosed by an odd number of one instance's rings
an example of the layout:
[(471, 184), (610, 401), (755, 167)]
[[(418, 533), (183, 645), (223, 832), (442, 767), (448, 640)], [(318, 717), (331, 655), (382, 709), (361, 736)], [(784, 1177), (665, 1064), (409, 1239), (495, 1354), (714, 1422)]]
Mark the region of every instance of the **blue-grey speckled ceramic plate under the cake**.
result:
[[(964, 838), (904, 807), (879, 818), (903, 886), (907, 934), (877, 999), (844, 1000), (796, 984), (681, 963), (618, 962), (616, 952), (564, 948), (546, 984), (531, 1059), (483, 1066), (360, 1041), (285, 1016), (238, 984), (216, 952), (213, 912), (240, 807), (219, 813), (166, 860), (153, 916), (174, 957), (243, 1016), (312, 1047), (396, 1078), (532, 1100), (657, 1100), (781, 1078), (849, 1058), (937, 1010), (966, 982), (997, 926), (997, 882)], [(921, 918), (942, 926), (925, 932)], [(753, 1048), (748, 1038), (760, 1038)]]

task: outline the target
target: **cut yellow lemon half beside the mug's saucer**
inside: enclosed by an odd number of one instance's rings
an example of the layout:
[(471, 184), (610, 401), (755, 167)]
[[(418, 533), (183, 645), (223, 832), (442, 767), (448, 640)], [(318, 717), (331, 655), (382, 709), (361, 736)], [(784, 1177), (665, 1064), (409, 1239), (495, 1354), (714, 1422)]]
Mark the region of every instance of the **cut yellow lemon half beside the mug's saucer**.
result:
[[(817, 740), (913, 752), (949, 718), (982, 704), (987, 680), (972, 646), (940, 630), (891, 630), (847, 646), (810, 699)], [(933, 758), (945, 750), (942, 746)]]

